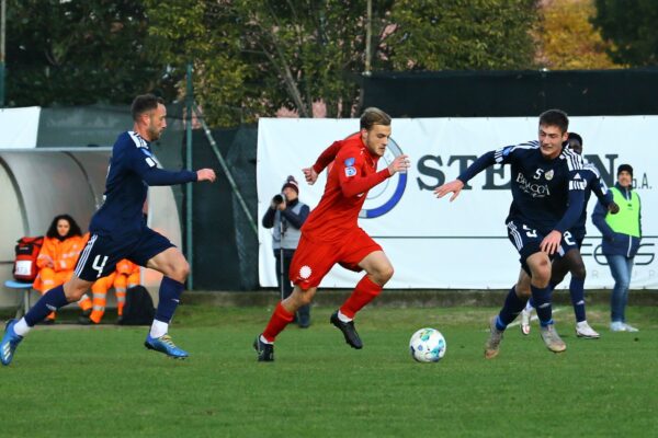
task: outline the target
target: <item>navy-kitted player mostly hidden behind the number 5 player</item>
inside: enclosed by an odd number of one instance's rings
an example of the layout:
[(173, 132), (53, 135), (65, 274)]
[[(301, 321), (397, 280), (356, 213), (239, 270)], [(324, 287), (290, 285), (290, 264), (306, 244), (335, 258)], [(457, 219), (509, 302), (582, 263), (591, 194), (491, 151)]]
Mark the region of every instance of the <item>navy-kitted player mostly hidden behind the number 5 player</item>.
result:
[[(576, 132), (569, 132), (568, 141), (569, 149), (579, 155), (582, 155), (582, 137)], [(587, 183), (585, 187), (585, 205), (582, 212), (576, 224), (568, 231), (569, 234), (565, 233), (565, 239), (575, 241), (576, 246), (571, 247), (568, 253), (560, 252), (559, 256), (553, 261), (549, 287), (551, 290), (555, 289), (555, 287), (564, 280), (567, 273), (571, 273), (569, 295), (576, 315), (576, 336), (585, 339), (598, 339), (600, 335), (588, 324), (585, 310), (585, 277), (587, 273), (585, 263), (582, 262), (582, 255), (580, 254), (580, 247), (582, 246), (582, 241), (587, 234), (585, 228), (587, 222), (587, 204), (593, 193), (597, 195), (599, 203), (601, 203), (601, 205), (603, 205), (603, 207), (612, 215), (615, 215), (620, 210), (620, 206), (612, 200), (612, 193), (601, 180), (601, 173), (594, 164), (590, 162), (583, 163), (582, 177)], [(526, 289), (529, 289), (530, 279), (527, 278), (524, 284), (527, 285)], [(524, 335), (530, 334), (530, 315), (533, 308), (534, 303), (531, 298), (527, 300), (525, 309), (521, 312), (521, 332)]]

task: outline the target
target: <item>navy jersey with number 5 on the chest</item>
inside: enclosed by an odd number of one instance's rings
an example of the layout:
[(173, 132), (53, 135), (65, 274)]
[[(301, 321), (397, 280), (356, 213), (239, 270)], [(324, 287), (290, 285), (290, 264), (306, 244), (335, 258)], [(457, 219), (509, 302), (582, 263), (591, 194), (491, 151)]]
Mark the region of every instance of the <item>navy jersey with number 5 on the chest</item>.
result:
[(512, 169), (512, 205), (506, 220), (517, 220), (546, 235), (553, 230), (570, 229), (583, 208), (586, 187), (582, 159), (568, 148), (547, 160), (540, 142), (507, 146), (480, 157), (458, 180), (466, 183), (484, 169), (510, 164)]

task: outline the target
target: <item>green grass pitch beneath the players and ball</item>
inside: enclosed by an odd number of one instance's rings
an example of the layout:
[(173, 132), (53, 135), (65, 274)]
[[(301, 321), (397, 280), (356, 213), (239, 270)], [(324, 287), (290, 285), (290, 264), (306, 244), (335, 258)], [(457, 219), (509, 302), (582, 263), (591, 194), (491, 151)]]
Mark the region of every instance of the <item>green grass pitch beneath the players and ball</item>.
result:
[[(629, 308), (639, 333), (611, 333), (589, 310), (598, 341), (576, 338), (572, 312), (555, 314), (568, 349), (549, 353), (536, 323), (506, 334), (485, 360), (497, 309), (364, 310), (353, 350), (315, 308), (288, 327), (273, 364), (251, 343), (270, 311), (179, 309), (171, 330), (191, 353), (143, 347), (146, 327), (37, 327), (0, 369), (4, 437), (646, 437), (658, 426), (658, 309)], [(447, 354), (417, 364), (411, 334), (439, 328)], [(655, 436), (655, 435), (654, 435)]]

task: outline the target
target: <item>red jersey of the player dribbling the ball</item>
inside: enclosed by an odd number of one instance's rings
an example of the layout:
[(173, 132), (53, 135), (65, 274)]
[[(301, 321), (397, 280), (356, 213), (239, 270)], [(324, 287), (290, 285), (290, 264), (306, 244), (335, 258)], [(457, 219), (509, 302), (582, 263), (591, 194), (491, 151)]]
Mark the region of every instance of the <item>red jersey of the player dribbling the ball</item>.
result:
[(322, 198), (302, 227), (302, 233), (311, 241), (340, 241), (359, 228), (367, 192), (390, 176), (388, 168), (377, 172), (379, 157), (370, 152), (361, 134), (333, 142), (318, 162), (333, 154)]

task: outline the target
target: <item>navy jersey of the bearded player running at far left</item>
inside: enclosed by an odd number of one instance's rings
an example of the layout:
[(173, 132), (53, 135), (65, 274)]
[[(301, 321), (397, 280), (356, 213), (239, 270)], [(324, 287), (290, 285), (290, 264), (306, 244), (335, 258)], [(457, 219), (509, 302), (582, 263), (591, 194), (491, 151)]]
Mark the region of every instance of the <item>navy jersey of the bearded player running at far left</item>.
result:
[(149, 185), (193, 181), (195, 172), (158, 169), (149, 142), (137, 132), (123, 132), (112, 148), (103, 205), (91, 218), (89, 231), (101, 235), (139, 232), (146, 226), (143, 208)]

